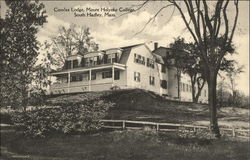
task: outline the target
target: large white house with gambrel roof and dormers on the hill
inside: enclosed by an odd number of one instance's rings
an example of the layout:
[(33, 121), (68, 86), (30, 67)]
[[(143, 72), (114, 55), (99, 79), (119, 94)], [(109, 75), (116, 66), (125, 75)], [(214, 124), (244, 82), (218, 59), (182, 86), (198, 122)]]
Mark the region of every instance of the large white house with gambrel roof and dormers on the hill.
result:
[[(189, 76), (181, 74), (178, 85), (176, 68), (167, 67), (162, 53), (161, 47), (152, 52), (146, 44), (136, 44), (71, 55), (61, 70), (51, 73), (57, 82), (50, 86), (50, 94), (141, 88), (192, 101)], [(206, 103), (207, 86), (203, 90), (200, 102)]]

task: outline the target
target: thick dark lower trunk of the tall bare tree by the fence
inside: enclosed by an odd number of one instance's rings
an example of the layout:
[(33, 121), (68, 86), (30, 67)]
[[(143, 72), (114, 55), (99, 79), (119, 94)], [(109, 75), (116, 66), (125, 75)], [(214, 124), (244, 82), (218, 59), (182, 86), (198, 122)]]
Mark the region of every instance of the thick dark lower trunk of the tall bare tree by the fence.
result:
[(208, 102), (210, 112), (210, 130), (213, 136), (220, 138), (220, 130), (217, 119), (217, 105), (216, 105), (216, 83), (217, 73), (214, 69), (210, 69), (208, 78)]

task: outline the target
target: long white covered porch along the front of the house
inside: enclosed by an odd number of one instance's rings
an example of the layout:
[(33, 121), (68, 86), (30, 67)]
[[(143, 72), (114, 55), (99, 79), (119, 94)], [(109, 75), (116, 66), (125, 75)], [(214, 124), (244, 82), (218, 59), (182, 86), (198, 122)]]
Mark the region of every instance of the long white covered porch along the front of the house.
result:
[(123, 64), (112, 63), (93, 67), (82, 67), (51, 73), (57, 82), (50, 86), (50, 94), (110, 90), (124, 85)]

